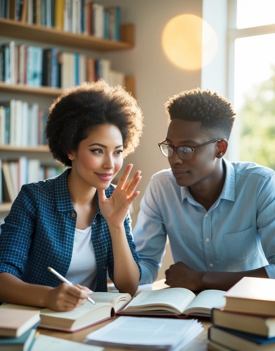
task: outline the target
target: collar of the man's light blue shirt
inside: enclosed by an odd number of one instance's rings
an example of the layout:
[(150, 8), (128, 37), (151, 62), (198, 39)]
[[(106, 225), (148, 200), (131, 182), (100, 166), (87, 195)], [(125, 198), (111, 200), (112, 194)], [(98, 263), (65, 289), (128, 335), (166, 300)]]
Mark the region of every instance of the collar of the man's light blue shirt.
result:
[[(221, 192), (221, 195), (218, 200), (220, 199), (225, 199), (225, 200), (230, 200), (234, 201), (235, 200), (235, 171), (234, 167), (231, 165), (229, 161), (226, 159), (222, 159), (223, 164), (225, 166), (225, 181), (224, 181), (224, 186)], [(182, 186), (181, 187), (181, 196), (182, 196), (182, 201), (186, 198), (190, 199), (190, 192), (187, 186)]]

